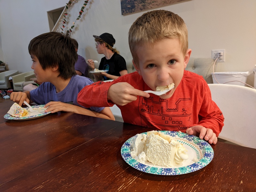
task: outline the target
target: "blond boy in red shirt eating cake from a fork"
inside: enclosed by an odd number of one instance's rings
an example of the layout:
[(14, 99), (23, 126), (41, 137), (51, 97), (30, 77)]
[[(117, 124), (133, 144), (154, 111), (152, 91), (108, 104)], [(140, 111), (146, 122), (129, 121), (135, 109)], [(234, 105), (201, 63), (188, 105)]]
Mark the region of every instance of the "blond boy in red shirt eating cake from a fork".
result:
[[(129, 30), (129, 46), (137, 72), (84, 87), (78, 103), (116, 104), (125, 123), (186, 132), (216, 144), (224, 118), (204, 78), (184, 70), (191, 49), (187, 26), (180, 16), (164, 10), (144, 13)], [(172, 83), (174, 88), (161, 96), (143, 92)], [(88, 100), (87, 94), (101, 97)]]

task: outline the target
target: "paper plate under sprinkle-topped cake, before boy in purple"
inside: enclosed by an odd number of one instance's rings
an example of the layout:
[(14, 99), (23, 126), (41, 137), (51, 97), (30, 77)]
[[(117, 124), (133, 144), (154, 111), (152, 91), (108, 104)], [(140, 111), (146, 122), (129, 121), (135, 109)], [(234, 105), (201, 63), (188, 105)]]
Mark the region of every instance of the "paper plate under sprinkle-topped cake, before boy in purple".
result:
[(28, 107), (24, 107), (24, 109), (28, 110), (28, 115), (23, 116), (23, 117), (13, 117), (10, 114), (5, 114), (4, 118), (5, 119), (12, 119), (12, 120), (30, 120), (30, 119), (36, 119), (45, 115), (48, 115), (51, 112), (44, 112), (46, 108), (44, 108), (44, 105), (34, 105), (31, 106), (33, 109), (36, 109), (38, 113), (30, 113)]

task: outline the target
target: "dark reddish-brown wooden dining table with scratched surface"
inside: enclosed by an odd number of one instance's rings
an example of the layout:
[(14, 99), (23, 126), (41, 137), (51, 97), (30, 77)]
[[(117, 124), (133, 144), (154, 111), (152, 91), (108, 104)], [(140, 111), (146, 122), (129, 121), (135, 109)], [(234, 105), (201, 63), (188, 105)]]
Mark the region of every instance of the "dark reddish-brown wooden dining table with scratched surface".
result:
[(12, 104), (0, 99), (1, 192), (256, 191), (254, 148), (217, 142), (212, 161), (198, 171), (150, 174), (127, 164), (121, 147), (152, 128), (70, 112), (5, 119)]

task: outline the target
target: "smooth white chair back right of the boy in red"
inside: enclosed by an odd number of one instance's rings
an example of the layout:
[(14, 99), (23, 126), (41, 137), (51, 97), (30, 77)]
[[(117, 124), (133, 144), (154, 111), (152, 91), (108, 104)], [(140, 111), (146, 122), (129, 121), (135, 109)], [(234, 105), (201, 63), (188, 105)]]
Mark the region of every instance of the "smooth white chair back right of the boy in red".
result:
[(256, 90), (240, 85), (208, 84), (224, 116), (219, 138), (256, 148)]

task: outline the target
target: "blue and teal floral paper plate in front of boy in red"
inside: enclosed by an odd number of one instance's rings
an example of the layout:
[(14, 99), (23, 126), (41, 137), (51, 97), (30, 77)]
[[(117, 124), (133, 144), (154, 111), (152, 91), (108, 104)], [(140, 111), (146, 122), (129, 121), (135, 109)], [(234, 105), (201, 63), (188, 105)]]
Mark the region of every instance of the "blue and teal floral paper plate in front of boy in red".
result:
[[(125, 141), (121, 148), (121, 155), (126, 163), (133, 168), (142, 172), (156, 174), (156, 175), (181, 175), (197, 171), (208, 165), (213, 158), (213, 149), (209, 143), (201, 140), (194, 135), (176, 131), (158, 131), (166, 135), (176, 138), (188, 150), (188, 160), (183, 161), (182, 164), (175, 167), (164, 167), (160, 165), (153, 165), (150, 162), (142, 164), (136, 161), (131, 156), (131, 144), (136, 139), (136, 135)], [(142, 134), (147, 134), (144, 132)]]

